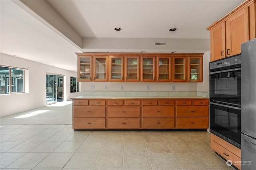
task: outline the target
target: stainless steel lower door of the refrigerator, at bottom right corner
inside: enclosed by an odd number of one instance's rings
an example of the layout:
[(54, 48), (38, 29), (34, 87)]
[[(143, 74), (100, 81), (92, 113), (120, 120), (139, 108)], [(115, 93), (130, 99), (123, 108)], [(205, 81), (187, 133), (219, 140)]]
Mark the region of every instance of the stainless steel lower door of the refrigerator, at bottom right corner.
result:
[(256, 170), (256, 139), (241, 135), (242, 170)]

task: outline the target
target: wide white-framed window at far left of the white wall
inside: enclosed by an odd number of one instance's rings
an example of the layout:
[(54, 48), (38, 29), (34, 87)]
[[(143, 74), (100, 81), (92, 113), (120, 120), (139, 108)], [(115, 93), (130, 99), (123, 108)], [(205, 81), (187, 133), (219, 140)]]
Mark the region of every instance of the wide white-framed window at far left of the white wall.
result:
[(24, 92), (24, 69), (0, 66), (0, 94)]

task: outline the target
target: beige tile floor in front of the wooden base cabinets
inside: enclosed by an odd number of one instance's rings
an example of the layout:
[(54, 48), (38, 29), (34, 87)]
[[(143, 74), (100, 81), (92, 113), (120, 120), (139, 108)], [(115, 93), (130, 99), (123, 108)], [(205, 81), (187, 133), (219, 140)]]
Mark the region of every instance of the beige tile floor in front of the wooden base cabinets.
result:
[(1, 124), (0, 132), (1, 170), (233, 169), (210, 148), (205, 131), (73, 131), (72, 125)]

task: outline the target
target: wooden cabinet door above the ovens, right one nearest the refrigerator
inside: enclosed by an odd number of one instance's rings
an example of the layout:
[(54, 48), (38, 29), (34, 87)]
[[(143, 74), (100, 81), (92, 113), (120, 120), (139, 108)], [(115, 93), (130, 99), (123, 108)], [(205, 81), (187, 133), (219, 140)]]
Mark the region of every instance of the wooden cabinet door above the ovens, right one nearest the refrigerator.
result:
[(234, 14), (226, 21), (226, 57), (241, 53), (241, 44), (249, 40), (248, 10)]

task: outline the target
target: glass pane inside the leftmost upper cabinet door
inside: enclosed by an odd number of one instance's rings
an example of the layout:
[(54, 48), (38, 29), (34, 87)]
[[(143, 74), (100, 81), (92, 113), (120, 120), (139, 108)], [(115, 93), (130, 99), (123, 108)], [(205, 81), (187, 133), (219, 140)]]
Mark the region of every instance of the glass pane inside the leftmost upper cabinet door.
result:
[(80, 79), (91, 80), (91, 60), (88, 58), (80, 58)]

